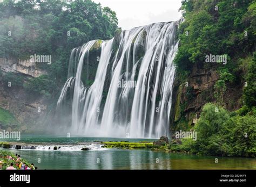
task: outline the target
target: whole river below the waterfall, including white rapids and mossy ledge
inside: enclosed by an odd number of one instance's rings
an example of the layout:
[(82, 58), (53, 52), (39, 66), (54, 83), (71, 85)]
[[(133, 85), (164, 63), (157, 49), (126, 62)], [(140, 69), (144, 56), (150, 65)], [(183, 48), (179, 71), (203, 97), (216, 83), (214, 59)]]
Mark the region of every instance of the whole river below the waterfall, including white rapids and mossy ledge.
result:
[[(11, 146), (9, 149), (0, 150), (21, 155), (22, 159), (36, 163), (39, 169), (256, 169), (255, 159), (252, 158), (205, 156), (174, 150), (181, 145), (186, 147), (185, 139), (175, 140), (177, 144), (181, 141), (178, 146), (173, 146), (174, 140), (171, 139), (163, 146), (163, 141), (166, 141), (164, 138), (160, 141), (23, 135), (21, 141), (2, 141), (8, 142)], [(80, 145), (90, 149), (81, 150)], [(96, 145), (102, 147), (97, 148)], [(170, 145), (171, 149), (168, 149)], [(54, 149), (55, 146), (57, 149)], [(218, 163), (215, 163), (216, 158)]]

